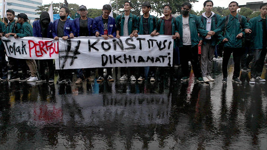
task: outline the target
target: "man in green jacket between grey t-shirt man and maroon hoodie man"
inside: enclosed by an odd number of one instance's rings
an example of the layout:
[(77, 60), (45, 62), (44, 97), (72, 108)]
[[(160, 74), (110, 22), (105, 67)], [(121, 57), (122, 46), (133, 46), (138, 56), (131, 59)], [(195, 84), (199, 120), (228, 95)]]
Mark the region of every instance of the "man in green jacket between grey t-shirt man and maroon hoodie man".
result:
[[(139, 16), (139, 24), (137, 26), (136, 33), (139, 32), (140, 35), (150, 34), (150, 36), (155, 36), (157, 32), (157, 21), (156, 17), (149, 14), (151, 5), (148, 2), (142, 4), (143, 15)], [(136, 34), (135, 33), (135, 34)], [(149, 67), (150, 81), (155, 82), (155, 67)], [(144, 67), (139, 67), (139, 78), (138, 81), (144, 80)]]

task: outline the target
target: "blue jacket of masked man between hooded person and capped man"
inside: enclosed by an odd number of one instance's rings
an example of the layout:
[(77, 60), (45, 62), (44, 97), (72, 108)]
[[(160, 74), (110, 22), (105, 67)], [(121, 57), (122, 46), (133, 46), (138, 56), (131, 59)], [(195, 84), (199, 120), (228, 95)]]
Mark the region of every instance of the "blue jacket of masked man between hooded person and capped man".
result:
[[(58, 36), (58, 33), (57, 33), (58, 32), (57, 31), (58, 21), (59, 21), (59, 19), (55, 20), (54, 23), (53, 23), (53, 30), (52, 30), (53, 38)], [(74, 27), (74, 24), (72, 23), (72, 20), (67, 19), (66, 22), (65, 22), (65, 25), (64, 25), (64, 36), (68, 36), (69, 37), (70, 33), (75, 34), (76, 33), (76, 29)]]

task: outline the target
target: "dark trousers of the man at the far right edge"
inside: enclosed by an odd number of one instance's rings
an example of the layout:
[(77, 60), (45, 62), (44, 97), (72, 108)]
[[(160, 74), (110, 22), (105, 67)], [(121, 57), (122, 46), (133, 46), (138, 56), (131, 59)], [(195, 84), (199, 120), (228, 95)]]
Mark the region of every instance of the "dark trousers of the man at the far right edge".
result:
[(264, 59), (266, 55), (267, 49), (255, 49), (254, 50), (254, 56), (252, 60), (252, 67), (250, 72), (251, 78), (260, 77), (264, 65)]

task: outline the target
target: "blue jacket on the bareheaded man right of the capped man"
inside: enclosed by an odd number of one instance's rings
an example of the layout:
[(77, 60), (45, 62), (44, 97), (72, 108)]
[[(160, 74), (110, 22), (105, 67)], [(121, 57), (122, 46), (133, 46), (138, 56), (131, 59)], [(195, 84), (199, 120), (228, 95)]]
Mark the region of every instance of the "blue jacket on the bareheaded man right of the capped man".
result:
[[(102, 15), (95, 17), (94, 22), (93, 22), (93, 34), (96, 34), (96, 31), (100, 33), (99, 36), (104, 35), (104, 25), (103, 25), (103, 20), (102, 20)], [(113, 35), (114, 37), (116, 36), (116, 24), (115, 24), (115, 19), (113, 17), (108, 18), (108, 35)]]

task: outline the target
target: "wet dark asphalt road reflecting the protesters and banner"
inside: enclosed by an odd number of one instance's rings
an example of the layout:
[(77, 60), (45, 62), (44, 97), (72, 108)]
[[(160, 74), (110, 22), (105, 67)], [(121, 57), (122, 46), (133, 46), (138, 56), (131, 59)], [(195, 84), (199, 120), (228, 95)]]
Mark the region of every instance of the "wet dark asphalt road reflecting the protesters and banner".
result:
[(267, 149), (266, 83), (232, 83), (231, 59), (223, 84), (221, 67), (210, 84), (193, 71), (184, 83), (0, 83), (0, 149)]

